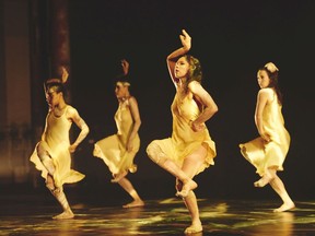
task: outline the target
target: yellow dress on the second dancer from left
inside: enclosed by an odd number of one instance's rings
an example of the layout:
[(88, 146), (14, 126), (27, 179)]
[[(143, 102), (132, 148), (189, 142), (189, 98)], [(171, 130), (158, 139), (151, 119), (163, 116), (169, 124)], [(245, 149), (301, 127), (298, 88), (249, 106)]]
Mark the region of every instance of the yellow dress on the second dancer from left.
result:
[(118, 109), (114, 116), (117, 133), (97, 141), (94, 144), (93, 155), (102, 158), (108, 166), (112, 174), (124, 172), (137, 172), (137, 165), (133, 158), (140, 149), (140, 138), (133, 139), (133, 150), (127, 152), (126, 144), (133, 129), (133, 119), (130, 111), (129, 99), (119, 103)]

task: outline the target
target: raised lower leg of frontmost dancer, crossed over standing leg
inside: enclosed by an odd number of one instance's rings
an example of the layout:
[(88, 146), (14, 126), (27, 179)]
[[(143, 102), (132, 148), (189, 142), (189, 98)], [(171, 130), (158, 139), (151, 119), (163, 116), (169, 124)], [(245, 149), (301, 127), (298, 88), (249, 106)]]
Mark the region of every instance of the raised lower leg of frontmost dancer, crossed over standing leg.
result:
[(162, 153), (159, 145), (154, 143), (154, 141), (149, 144), (147, 153), (153, 162), (155, 162), (159, 166), (164, 168), (166, 172), (168, 172), (183, 182), (182, 191), (177, 191), (176, 193), (178, 197), (185, 198), (188, 196), (188, 192), (190, 190), (194, 190), (198, 187), (197, 182), (189, 178), (186, 173), (184, 173), (173, 161), (168, 160)]

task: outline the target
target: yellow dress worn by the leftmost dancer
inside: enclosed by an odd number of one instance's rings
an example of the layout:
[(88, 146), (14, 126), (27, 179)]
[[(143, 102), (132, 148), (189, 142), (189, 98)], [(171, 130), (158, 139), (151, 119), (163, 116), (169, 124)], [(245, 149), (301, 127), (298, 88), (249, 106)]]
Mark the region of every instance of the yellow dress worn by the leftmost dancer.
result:
[[(60, 117), (56, 117), (52, 111), (49, 110), (46, 117), (45, 131), (42, 135), (42, 143), (50, 155), (56, 168), (54, 180), (57, 187), (63, 184), (77, 182), (84, 178), (83, 174), (71, 169), (69, 131), (72, 122), (66, 117), (69, 107), (70, 106), (67, 105), (65, 113)], [(36, 148), (37, 145), (38, 143)], [(47, 179), (48, 172), (37, 156), (36, 148), (30, 161), (42, 172), (42, 177)]]

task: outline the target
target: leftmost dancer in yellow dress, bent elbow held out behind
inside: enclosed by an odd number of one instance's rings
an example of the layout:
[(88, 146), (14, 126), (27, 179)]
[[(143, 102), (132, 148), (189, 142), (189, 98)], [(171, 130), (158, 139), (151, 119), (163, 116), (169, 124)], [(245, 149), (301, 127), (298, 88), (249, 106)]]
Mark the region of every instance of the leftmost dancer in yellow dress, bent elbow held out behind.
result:
[[(68, 72), (62, 68), (62, 79), (50, 79), (44, 84), (49, 109), (46, 116), (45, 130), (42, 140), (31, 156), (31, 162), (42, 172), (46, 187), (60, 203), (63, 212), (52, 219), (72, 219), (74, 214), (63, 192), (63, 184), (80, 181), (84, 175), (71, 169), (71, 153), (89, 133), (89, 127), (80, 117), (78, 110), (65, 102), (63, 83)], [(69, 132), (72, 123), (80, 129), (77, 140), (70, 144)]]

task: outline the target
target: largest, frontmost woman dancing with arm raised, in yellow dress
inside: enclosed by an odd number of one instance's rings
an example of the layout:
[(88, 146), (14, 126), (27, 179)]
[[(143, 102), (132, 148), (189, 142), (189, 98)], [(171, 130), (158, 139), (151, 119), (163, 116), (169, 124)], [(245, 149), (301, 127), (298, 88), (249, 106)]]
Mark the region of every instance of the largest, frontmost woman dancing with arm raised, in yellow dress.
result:
[(202, 232), (192, 178), (210, 165), (214, 165), (215, 144), (211, 140), (206, 121), (218, 106), (201, 86), (199, 60), (187, 55), (191, 38), (185, 30), (179, 36), (183, 47), (167, 57), (167, 67), (176, 94), (171, 106), (173, 115), (172, 137), (152, 141), (147, 153), (162, 168), (176, 177), (176, 196), (182, 197), (191, 216), (186, 234)]

